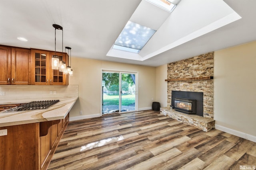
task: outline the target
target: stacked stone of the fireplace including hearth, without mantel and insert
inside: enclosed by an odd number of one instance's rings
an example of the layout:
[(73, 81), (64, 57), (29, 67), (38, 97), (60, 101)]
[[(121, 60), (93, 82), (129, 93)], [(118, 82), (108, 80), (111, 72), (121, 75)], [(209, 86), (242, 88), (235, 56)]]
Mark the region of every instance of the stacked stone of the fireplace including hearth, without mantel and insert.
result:
[[(214, 53), (199, 55), (190, 59), (167, 64), (167, 79), (198, 78), (213, 76)], [(172, 90), (186, 92), (203, 92), (203, 117), (180, 113), (170, 108)], [(213, 119), (213, 80), (183, 80), (167, 83), (167, 103), (169, 107), (161, 107), (160, 113), (203, 131), (214, 129)]]

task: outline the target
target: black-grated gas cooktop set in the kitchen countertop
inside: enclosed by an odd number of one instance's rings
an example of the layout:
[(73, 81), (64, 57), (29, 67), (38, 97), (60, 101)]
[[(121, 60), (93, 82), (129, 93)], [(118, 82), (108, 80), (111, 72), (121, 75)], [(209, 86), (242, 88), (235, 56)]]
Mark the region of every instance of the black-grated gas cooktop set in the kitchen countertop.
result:
[(13, 112), (13, 111), (25, 111), (25, 110), (38, 110), (38, 109), (47, 109), (48, 107), (56, 104), (60, 100), (42, 100), (42, 101), (33, 101), (20, 106), (12, 107), (10, 109), (4, 110), (1, 113)]

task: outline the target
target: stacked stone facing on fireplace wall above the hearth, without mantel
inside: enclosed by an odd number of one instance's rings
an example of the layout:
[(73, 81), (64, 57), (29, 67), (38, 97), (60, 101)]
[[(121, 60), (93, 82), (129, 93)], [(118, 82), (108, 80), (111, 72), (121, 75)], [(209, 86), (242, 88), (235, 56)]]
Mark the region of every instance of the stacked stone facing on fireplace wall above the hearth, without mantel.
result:
[[(213, 76), (214, 52), (167, 64), (167, 79)], [(167, 83), (167, 104), (171, 105), (172, 90), (203, 92), (203, 116), (213, 118), (213, 80), (184, 80)]]

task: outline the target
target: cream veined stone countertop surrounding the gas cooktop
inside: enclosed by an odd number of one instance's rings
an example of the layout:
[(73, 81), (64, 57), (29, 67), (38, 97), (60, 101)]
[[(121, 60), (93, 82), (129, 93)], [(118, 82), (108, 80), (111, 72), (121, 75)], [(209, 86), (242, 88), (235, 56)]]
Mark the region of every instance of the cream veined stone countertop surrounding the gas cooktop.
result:
[[(42, 121), (51, 121), (64, 119), (68, 115), (70, 109), (76, 103), (78, 97), (62, 97), (62, 98), (44, 98), (43, 100), (60, 100), (60, 102), (52, 105), (48, 109), (30, 110), (30, 111), (14, 111), (9, 113), (0, 112), (0, 127), (22, 125), (27, 123), (37, 123)], [(27, 99), (17, 101), (1, 101), (1, 104), (17, 104), (38, 101), (42, 99)]]

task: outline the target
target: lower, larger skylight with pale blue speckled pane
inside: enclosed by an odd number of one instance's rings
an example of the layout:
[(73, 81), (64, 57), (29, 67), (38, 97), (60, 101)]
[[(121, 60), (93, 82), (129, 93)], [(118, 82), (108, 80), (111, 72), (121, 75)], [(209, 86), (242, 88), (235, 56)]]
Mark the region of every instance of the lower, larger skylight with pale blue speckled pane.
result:
[(139, 53), (156, 30), (128, 21), (116, 39), (113, 49)]

